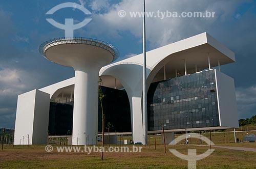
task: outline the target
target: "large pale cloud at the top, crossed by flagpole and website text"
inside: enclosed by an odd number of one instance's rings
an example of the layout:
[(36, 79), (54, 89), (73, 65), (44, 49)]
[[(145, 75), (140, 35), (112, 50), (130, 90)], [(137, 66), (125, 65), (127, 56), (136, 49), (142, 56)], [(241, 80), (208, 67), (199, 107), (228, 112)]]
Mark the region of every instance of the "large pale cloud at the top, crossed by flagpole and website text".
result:
[[(178, 41), (198, 33), (205, 32), (215, 22), (224, 22), (232, 17), (240, 1), (179, 1), (161, 0), (146, 1), (146, 11), (157, 12), (166, 10), (172, 12), (216, 12), (214, 18), (147, 18), (147, 40), (152, 47), (159, 47)], [(93, 10), (100, 10), (107, 1), (95, 0), (91, 3)], [(117, 5), (108, 7), (104, 14), (94, 14), (93, 22), (88, 25), (90, 35), (120, 36), (125, 31), (134, 36), (142, 36), (142, 18), (132, 18), (129, 12), (142, 11), (142, 1), (123, 0)], [(125, 10), (126, 17), (119, 17), (118, 11)], [(96, 26), (98, 25), (98, 26)], [(99, 26), (100, 25), (100, 26)], [(91, 27), (90, 27), (91, 26)]]

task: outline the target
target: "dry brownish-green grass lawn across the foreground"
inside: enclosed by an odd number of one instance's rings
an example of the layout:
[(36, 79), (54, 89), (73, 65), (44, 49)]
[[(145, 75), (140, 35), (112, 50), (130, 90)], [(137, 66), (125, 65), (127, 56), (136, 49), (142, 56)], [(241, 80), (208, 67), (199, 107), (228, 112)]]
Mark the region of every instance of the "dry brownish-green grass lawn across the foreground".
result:
[[(115, 145), (114, 145), (115, 146)], [(108, 147), (108, 146), (106, 146)], [(197, 149), (198, 154), (205, 152), (206, 147), (178, 145), (167, 146), (164, 153), (163, 145), (142, 146), (141, 153), (105, 153), (100, 160), (100, 153), (47, 153), (45, 146), (5, 146), (0, 150), (0, 168), (187, 168), (187, 161), (182, 160), (168, 151), (186, 154), (187, 149)], [(197, 168), (256, 168), (256, 153), (215, 148), (215, 152), (197, 162)]]

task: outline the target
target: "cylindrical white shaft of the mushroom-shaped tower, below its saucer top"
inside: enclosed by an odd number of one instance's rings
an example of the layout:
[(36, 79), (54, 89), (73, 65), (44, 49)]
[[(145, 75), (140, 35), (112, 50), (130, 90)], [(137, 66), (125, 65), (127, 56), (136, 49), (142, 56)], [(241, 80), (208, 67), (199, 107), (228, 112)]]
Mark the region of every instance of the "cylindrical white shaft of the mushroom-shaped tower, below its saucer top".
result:
[(73, 145), (97, 143), (98, 73), (99, 69), (75, 70)]

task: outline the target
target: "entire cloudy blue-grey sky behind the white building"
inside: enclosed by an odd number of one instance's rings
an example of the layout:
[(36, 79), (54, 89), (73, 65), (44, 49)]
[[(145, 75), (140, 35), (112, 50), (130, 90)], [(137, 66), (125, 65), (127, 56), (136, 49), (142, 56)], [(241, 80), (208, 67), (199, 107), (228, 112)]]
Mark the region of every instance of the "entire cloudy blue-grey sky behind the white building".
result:
[[(120, 59), (142, 52), (142, 18), (129, 12), (141, 11), (142, 0), (0, 0), (0, 127), (14, 128), (17, 95), (74, 76), (72, 68), (53, 64), (40, 56), (38, 46), (65, 33), (49, 22), (46, 15), (54, 6), (77, 3), (89, 11), (66, 8), (51, 17), (92, 21), (74, 36), (110, 42), (120, 51)], [(125, 10), (126, 17), (118, 12)], [(237, 63), (222, 67), (235, 79), (239, 118), (256, 115), (256, 1), (253, 0), (146, 0), (151, 12), (216, 12), (214, 18), (147, 18), (147, 50), (208, 32), (236, 53)]]

